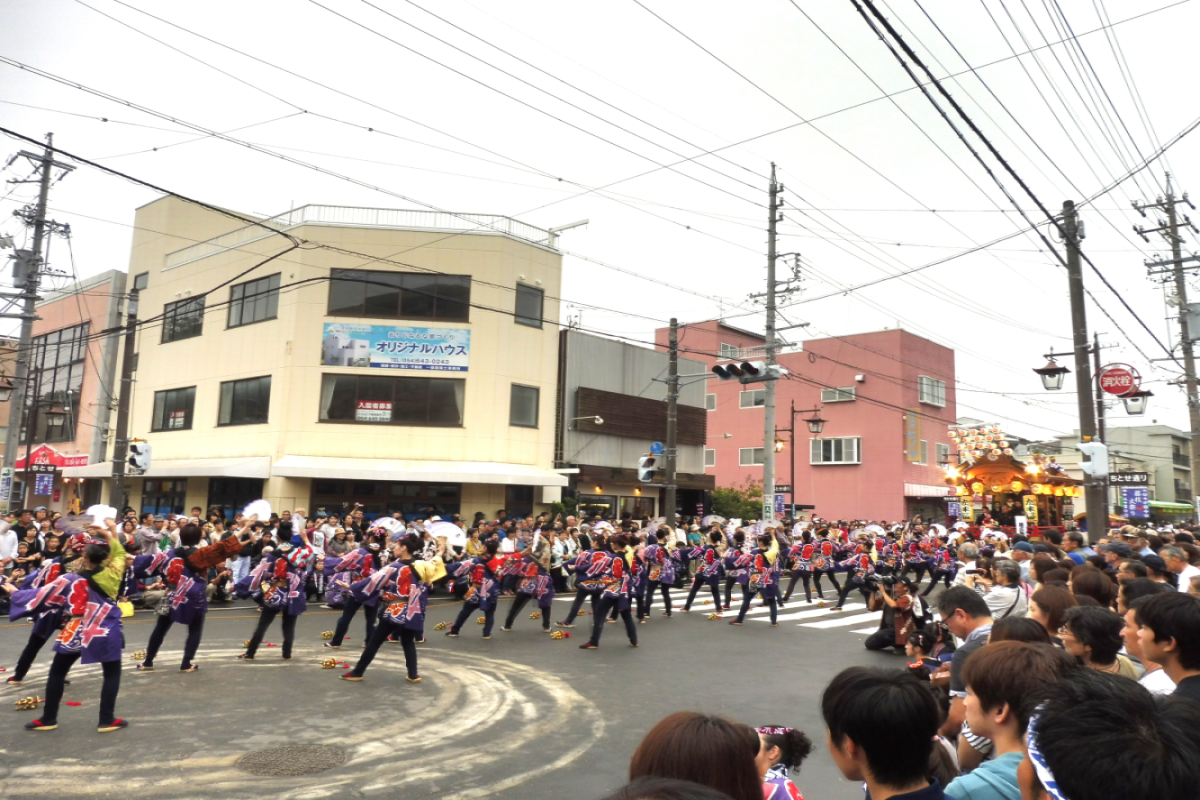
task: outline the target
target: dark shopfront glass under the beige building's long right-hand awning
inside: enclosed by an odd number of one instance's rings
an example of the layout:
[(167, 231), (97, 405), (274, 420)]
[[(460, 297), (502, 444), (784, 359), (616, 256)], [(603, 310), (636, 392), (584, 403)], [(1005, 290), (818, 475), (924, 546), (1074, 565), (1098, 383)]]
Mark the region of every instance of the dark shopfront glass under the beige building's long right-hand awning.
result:
[(383, 515), (401, 513), (406, 519), (445, 517), (462, 513), (462, 483), (424, 483), (418, 481), (313, 481), (310, 513), (325, 511), (344, 515), (362, 504), (370, 521)]

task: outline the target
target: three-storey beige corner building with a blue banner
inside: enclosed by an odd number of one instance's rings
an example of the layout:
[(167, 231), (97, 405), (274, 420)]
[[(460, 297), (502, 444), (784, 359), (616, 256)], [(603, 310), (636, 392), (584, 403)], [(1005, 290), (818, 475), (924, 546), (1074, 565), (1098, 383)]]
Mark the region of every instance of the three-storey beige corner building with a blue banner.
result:
[(130, 434), (152, 457), (131, 505), (469, 518), (558, 499), (547, 241), (488, 215), (138, 209)]

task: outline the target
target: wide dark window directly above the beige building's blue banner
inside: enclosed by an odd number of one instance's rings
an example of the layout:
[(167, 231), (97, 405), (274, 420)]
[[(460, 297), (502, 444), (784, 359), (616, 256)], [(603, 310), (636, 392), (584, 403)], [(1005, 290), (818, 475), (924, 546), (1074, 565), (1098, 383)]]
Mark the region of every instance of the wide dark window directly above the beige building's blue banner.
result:
[(329, 313), (379, 319), (470, 319), (470, 276), (334, 270)]

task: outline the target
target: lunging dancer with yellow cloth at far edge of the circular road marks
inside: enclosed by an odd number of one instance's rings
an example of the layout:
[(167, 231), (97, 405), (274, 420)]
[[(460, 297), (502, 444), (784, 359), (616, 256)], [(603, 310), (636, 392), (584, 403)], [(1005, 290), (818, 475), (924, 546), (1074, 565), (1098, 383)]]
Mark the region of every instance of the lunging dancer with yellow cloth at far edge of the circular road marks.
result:
[(416, 640), (425, 631), (425, 608), (430, 599), (430, 587), (446, 573), (440, 554), (436, 552), (431, 560), (421, 560), (418, 554), (422, 549), (421, 537), (416, 534), (401, 536), (391, 548), (394, 560), (370, 578), (355, 584), (355, 587), (367, 584), (364, 588), (367, 591), (380, 590), (386, 604), (379, 615), (379, 625), (376, 626), (371, 640), (359, 656), (359, 662), (354, 664), (354, 669), (342, 674), (342, 680), (362, 680), (362, 674), (374, 661), (379, 648), (395, 634), (404, 648), (404, 666), (408, 669), (406, 680), (410, 684), (421, 682), (421, 675), (416, 670)]

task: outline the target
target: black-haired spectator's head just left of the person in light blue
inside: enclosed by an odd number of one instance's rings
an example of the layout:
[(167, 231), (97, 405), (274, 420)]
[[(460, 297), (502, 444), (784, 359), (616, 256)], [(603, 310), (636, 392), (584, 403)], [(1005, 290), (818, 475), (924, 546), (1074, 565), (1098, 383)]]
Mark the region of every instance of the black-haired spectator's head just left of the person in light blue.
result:
[(923, 786), (941, 718), (925, 684), (904, 672), (850, 667), (826, 687), (821, 714), (829, 752), (847, 778), (898, 790)]

